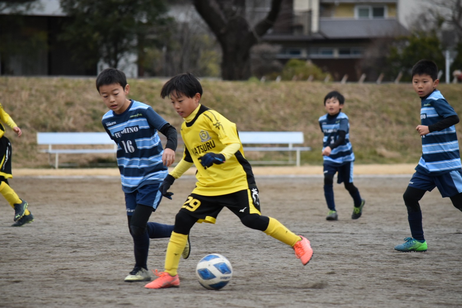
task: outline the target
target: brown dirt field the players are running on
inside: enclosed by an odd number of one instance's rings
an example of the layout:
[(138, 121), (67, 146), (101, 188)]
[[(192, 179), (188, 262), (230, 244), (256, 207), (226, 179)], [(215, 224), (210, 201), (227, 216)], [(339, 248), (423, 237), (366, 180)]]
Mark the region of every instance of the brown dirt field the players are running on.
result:
[[(450, 199), (435, 190), (421, 201), (428, 252), (398, 253), (393, 247), (410, 236), (402, 193), (412, 169), (355, 175), (366, 199), (358, 220), (350, 218), (351, 197), (335, 185), (336, 222), (325, 220), (318, 169), (305, 175), (255, 169), (262, 213), (311, 241), (307, 266), (291, 248), (223, 210), (215, 225), (192, 229), (191, 255), (180, 262), (181, 286), (164, 290), (123, 282), (133, 267), (133, 246), (113, 171), (18, 170), (10, 184), (36, 219), (10, 227), (13, 211), (0, 200), (0, 307), (461, 307), (462, 213)], [(192, 175), (177, 180), (173, 200), (164, 199), (151, 221), (173, 223), (194, 183)], [(151, 240), (150, 269), (163, 269), (167, 242)], [(220, 291), (195, 279), (195, 266), (208, 253), (225, 255), (234, 269)]]

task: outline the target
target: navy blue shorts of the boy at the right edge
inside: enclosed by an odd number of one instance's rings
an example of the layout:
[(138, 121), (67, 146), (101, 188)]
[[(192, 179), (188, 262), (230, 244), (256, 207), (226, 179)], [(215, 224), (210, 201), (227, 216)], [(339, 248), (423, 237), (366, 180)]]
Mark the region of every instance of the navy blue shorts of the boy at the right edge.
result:
[(429, 192), (431, 192), (433, 188), (438, 187), (441, 196), (452, 197), (458, 193), (462, 193), (462, 170), (452, 170), (438, 176), (415, 172), (408, 186), (427, 190)]

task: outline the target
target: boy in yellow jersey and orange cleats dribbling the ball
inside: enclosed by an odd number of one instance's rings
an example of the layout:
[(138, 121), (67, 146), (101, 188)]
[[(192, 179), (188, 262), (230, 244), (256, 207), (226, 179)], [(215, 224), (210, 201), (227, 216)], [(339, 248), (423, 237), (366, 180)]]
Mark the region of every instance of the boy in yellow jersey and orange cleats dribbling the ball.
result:
[(165, 256), (165, 271), (156, 270), (158, 278), (145, 287), (161, 289), (180, 285), (177, 269), (189, 230), (196, 222), (215, 223), (223, 207), (236, 214), (245, 226), (291, 246), (306, 265), (313, 255), (310, 241), (276, 219), (260, 214), (258, 188), (244, 157), (236, 124), (199, 103), (202, 96), (199, 80), (191, 73), (177, 75), (167, 81), (160, 95), (170, 97), (173, 108), (185, 120), (181, 126), (185, 149), (182, 160), (165, 177), (159, 190), (171, 198), (173, 193), (168, 189), (193, 164), (197, 168), (197, 182), (176, 214)]

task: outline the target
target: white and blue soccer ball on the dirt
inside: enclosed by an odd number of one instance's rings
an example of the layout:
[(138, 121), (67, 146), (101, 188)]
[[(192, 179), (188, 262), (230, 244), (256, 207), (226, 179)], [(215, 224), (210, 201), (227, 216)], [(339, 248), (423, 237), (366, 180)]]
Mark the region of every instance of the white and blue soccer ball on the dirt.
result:
[(232, 266), (221, 254), (207, 254), (197, 264), (196, 276), (204, 288), (219, 290), (231, 280)]

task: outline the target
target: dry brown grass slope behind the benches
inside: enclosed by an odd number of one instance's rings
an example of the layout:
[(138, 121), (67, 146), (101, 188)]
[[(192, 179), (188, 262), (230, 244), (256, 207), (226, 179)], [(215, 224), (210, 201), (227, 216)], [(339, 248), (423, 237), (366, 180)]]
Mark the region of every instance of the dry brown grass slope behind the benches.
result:
[[(159, 97), (164, 80), (128, 82), (130, 98), (150, 104), (172, 125), (180, 127), (182, 119), (168, 100)], [(305, 164), (322, 162), (317, 119), (325, 113), (323, 97), (332, 90), (346, 97), (344, 112), (350, 118), (357, 163), (417, 163), (420, 156), (420, 139), (414, 130), (419, 124), (420, 101), (409, 84), (202, 80), (202, 85), (201, 102), (227, 116), (241, 131), (303, 131), (305, 145), (313, 148), (303, 153)], [(462, 87), (440, 85), (439, 90), (461, 115)], [(100, 120), (107, 109), (95, 89), (94, 78), (1, 77), (0, 103), (23, 129), (23, 136), (17, 138), (6, 128), (13, 145), (13, 168), (48, 167), (48, 156), (37, 151), (36, 132), (104, 131)], [(456, 127), (460, 138), (462, 125)], [(101, 158), (73, 155), (62, 156), (62, 161), (85, 166)], [(111, 155), (103, 158), (113, 159)]]

